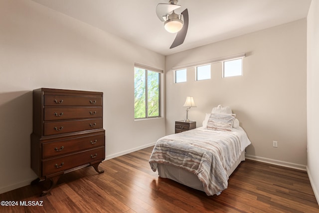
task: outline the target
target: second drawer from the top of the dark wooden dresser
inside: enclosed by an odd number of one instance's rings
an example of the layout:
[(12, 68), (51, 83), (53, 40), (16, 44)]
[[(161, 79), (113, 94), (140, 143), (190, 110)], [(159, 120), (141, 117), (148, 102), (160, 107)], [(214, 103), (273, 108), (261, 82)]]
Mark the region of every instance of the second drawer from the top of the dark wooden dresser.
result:
[(45, 107), (44, 120), (102, 117), (102, 107)]

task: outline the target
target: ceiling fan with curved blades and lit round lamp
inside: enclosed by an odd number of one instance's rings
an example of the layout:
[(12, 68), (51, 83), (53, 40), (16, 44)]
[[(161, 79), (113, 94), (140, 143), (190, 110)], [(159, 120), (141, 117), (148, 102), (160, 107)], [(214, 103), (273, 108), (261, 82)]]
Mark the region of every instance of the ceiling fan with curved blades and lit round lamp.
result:
[(164, 21), (164, 28), (171, 33), (177, 32), (169, 49), (184, 42), (188, 29), (188, 10), (185, 9), (180, 15), (176, 14), (174, 10), (181, 7), (177, 2), (178, 0), (169, 0), (168, 3), (159, 3), (156, 7), (156, 14)]

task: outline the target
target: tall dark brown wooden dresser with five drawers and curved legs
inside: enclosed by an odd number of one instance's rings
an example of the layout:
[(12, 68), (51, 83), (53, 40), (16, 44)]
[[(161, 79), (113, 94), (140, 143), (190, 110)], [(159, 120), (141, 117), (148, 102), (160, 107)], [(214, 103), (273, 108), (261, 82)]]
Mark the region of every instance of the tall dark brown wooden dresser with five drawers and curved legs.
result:
[(31, 168), (51, 186), (61, 175), (98, 165), (105, 159), (103, 93), (77, 90), (33, 90)]

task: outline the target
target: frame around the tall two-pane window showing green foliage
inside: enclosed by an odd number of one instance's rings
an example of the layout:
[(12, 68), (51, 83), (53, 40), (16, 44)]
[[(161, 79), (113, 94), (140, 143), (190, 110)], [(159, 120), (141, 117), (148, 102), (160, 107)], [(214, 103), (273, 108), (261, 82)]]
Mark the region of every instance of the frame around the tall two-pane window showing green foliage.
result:
[[(145, 76), (145, 117), (140, 117), (140, 118), (136, 118), (135, 117), (135, 106), (134, 106), (134, 120), (141, 120), (141, 119), (150, 119), (150, 118), (160, 118), (161, 117), (161, 113), (160, 113), (160, 111), (161, 111), (161, 92), (160, 92), (160, 90), (161, 90), (161, 74), (163, 73), (163, 71), (162, 70), (159, 70), (159, 69), (156, 69), (156, 68), (152, 68), (152, 67), (148, 67), (148, 66), (139, 66), (139, 65), (137, 65), (137, 64), (135, 64), (135, 66), (134, 66), (134, 84), (135, 84), (135, 69), (136, 68), (139, 68), (139, 69), (142, 69), (142, 70), (144, 70), (144, 76)], [(159, 106), (158, 106), (158, 108), (159, 108), (159, 115), (157, 115), (157, 116), (149, 116), (149, 106), (148, 106), (148, 104), (149, 104), (149, 94), (148, 94), (148, 82), (149, 82), (149, 75), (148, 75), (148, 72), (149, 71), (151, 71), (151, 72), (156, 72), (156, 73), (158, 73), (158, 81), (159, 81), (159, 83), (158, 83), (158, 91), (159, 91), (159, 100), (158, 100), (158, 102), (159, 102)], [(134, 105), (135, 105), (135, 87), (134, 87)]]

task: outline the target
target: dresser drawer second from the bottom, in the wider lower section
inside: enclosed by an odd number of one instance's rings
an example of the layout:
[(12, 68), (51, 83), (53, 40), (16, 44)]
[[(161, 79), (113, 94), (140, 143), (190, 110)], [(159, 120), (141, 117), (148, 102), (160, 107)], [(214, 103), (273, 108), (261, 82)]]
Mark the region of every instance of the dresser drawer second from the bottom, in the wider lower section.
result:
[(85, 149), (92, 149), (99, 146), (105, 146), (104, 133), (100, 135), (89, 135), (77, 137), (68, 140), (47, 142), (42, 144), (42, 158), (49, 158), (59, 155), (65, 155)]

